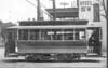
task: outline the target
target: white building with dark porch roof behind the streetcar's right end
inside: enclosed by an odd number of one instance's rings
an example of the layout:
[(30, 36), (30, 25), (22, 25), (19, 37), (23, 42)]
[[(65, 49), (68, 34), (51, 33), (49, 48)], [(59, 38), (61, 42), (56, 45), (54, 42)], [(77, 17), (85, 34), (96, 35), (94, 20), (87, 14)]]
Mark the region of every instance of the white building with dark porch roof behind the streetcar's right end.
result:
[[(46, 9), (46, 11), (53, 16), (53, 9)], [(107, 26), (106, 21), (102, 21), (100, 16), (100, 2), (96, 0), (78, 0), (77, 8), (65, 8), (55, 9), (56, 21), (67, 21), (67, 19), (85, 19), (87, 23), (89, 37), (97, 30), (99, 36), (98, 41), (100, 42), (100, 52), (107, 49)], [(95, 37), (95, 38), (96, 38)], [(96, 44), (98, 46), (98, 44)]]

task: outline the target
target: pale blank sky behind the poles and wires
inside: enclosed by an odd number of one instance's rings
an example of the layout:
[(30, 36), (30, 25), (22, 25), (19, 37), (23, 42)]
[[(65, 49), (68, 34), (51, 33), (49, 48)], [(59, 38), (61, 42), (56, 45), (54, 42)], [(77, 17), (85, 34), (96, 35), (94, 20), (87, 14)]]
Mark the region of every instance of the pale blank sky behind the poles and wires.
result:
[[(28, 0), (37, 5), (37, 0)], [(52, 8), (51, 0), (40, 0), (44, 8)], [(71, 4), (72, 1), (72, 4)], [(63, 8), (60, 2), (67, 2), (67, 6), (76, 6), (76, 0), (56, 0), (56, 6)], [(27, 21), (37, 18), (37, 9), (26, 0), (0, 0), (0, 19), (3, 22)]]

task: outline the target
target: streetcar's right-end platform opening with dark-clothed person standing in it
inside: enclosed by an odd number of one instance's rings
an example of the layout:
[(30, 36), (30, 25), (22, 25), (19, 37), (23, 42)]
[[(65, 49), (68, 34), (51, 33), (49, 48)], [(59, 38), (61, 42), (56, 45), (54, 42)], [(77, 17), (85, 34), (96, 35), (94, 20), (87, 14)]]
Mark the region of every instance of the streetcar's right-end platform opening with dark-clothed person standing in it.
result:
[(99, 27), (89, 28), (91, 36), (89, 37), (89, 52), (100, 55), (102, 53), (102, 29)]

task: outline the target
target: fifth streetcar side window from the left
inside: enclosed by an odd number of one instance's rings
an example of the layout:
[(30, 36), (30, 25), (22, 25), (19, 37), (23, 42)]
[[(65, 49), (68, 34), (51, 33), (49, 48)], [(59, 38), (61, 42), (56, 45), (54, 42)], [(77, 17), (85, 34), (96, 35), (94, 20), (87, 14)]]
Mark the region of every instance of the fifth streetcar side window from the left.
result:
[(64, 40), (73, 40), (73, 29), (64, 30)]

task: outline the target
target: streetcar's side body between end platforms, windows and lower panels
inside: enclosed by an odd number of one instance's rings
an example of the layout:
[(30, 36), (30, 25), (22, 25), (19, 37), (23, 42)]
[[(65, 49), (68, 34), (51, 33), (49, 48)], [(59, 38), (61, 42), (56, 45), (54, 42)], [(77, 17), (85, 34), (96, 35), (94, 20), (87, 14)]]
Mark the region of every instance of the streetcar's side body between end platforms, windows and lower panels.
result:
[[(85, 28), (69, 28), (69, 26), (65, 29), (64, 26), (45, 27), (39, 26), (37, 29), (28, 27), (28, 29), (18, 29), (18, 33), (23, 30), (28, 31), (27, 39), (17, 40), (18, 53), (86, 53)], [(37, 31), (36, 39), (29, 36), (32, 35), (32, 30)], [(82, 32), (82, 37), (84, 38), (80, 39), (81, 35), (77, 31)], [(71, 39), (69, 39), (69, 35)]]

